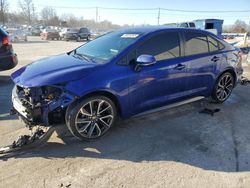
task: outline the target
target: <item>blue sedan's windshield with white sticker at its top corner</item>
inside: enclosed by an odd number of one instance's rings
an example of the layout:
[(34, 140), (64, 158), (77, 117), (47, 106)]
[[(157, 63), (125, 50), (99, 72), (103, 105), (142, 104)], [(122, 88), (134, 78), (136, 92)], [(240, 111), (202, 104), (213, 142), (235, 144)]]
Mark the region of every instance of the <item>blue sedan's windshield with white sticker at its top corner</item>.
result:
[(122, 50), (134, 43), (139, 33), (113, 32), (99, 37), (74, 50), (73, 55), (80, 55), (96, 63), (107, 63)]

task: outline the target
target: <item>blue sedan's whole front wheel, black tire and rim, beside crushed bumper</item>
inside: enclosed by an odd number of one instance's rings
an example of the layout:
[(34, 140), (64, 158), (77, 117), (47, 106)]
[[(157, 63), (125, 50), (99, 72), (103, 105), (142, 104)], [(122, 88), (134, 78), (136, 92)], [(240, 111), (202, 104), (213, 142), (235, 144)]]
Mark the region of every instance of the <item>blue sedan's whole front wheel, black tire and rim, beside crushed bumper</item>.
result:
[(66, 111), (66, 125), (78, 139), (91, 141), (104, 136), (117, 119), (113, 101), (105, 96), (85, 98)]

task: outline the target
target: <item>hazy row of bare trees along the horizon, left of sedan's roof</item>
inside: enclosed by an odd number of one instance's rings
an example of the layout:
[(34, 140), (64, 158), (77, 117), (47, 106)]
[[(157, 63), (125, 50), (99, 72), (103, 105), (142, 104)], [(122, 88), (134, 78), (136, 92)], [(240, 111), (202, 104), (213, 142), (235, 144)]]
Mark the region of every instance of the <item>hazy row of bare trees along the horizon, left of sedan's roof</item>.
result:
[(46, 6), (37, 11), (32, 0), (19, 0), (17, 11), (9, 12), (9, 1), (0, 0), (0, 25), (45, 25), (45, 26), (67, 26), (67, 27), (90, 27), (94, 29), (116, 29), (121, 26), (104, 20), (95, 22), (76, 17), (74, 14), (63, 14), (58, 16), (53, 7)]

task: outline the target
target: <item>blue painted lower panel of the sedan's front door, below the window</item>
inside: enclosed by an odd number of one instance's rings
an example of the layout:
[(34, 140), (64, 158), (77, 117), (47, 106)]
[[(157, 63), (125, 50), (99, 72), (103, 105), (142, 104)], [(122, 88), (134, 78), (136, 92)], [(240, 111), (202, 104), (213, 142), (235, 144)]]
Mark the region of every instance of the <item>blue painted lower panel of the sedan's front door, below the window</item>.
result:
[(183, 58), (156, 63), (140, 72), (130, 72), (130, 101), (138, 113), (185, 97), (186, 68), (177, 69)]

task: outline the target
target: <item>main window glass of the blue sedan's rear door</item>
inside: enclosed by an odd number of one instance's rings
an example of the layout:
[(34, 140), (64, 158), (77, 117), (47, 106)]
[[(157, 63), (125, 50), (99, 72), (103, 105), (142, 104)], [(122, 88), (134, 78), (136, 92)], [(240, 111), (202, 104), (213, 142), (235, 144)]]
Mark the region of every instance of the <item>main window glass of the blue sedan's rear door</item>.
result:
[(207, 35), (199, 32), (185, 31), (185, 55), (196, 55), (209, 52)]

